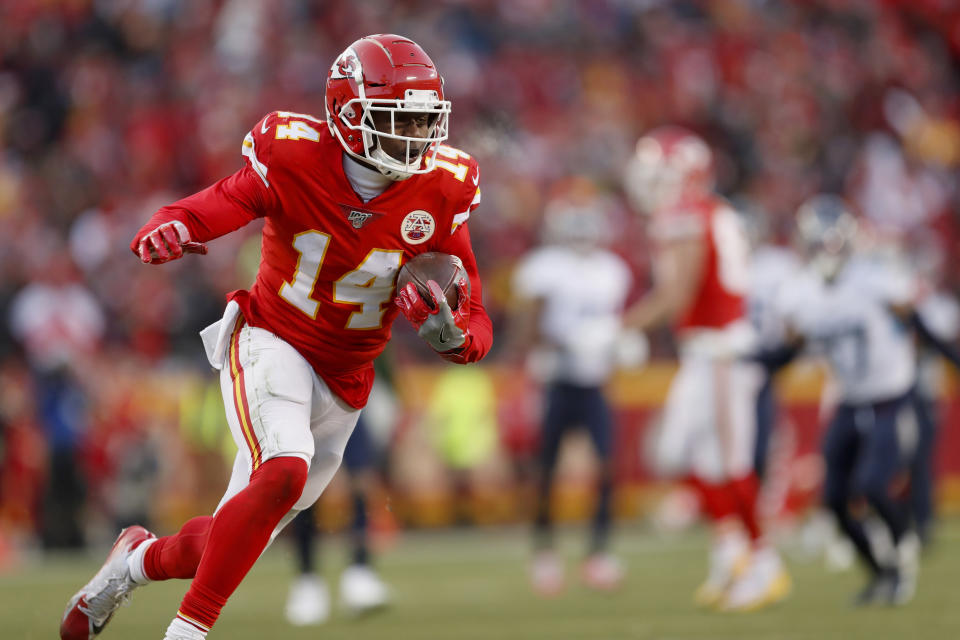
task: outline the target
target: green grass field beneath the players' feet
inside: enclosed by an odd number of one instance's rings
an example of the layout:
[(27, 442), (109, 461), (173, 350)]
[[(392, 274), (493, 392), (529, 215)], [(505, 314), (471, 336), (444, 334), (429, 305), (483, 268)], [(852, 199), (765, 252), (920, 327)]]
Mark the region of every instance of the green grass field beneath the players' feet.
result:
[[(579, 530), (563, 534), (571, 567)], [(552, 600), (534, 596), (526, 582), (527, 536), (521, 529), (408, 533), (378, 566), (395, 589), (394, 606), (361, 619), (334, 614), (323, 627), (298, 629), (282, 615), (291, 578), (288, 547), (279, 543), (257, 564), (223, 612), (211, 640), (643, 639), (643, 640), (885, 640), (960, 638), (960, 521), (944, 523), (924, 558), (917, 598), (897, 609), (854, 610), (858, 570), (827, 573), (822, 564), (791, 561), (794, 594), (781, 606), (754, 614), (696, 610), (690, 595), (704, 572), (706, 538), (691, 533), (662, 539), (621, 529), (616, 548), (629, 578), (613, 595), (575, 581)], [(323, 559), (335, 577), (342, 543), (331, 540)], [(102, 556), (47, 559), (0, 577), (0, 638), (56, 637), (62, 608), (97, 569)], [(575, 575), (575, 574), (572, 574)], [(100, 637), (160, 640), (186, 582), (136, 592)]]

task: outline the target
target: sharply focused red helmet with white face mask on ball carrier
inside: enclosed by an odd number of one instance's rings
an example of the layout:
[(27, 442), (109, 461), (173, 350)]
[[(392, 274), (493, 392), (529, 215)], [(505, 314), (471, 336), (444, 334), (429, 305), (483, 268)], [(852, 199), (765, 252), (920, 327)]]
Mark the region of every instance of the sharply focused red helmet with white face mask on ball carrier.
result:
[[(366, 36), (347, 47), (327, 74), (326, 108), (344, 151), (394, 180), (431, 171), (447, 139), (443, 78), (420, 45), (402, 36)], [(394, 126), (415, 115), (426, 116), (425, 136)]]

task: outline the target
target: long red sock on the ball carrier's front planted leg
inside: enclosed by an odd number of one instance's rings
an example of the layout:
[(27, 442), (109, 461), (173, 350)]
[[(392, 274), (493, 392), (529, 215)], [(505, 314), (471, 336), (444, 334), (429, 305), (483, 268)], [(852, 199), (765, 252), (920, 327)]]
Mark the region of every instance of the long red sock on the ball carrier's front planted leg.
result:
[(177, 615), (209, 629), (296, 504), (307, 481), (307, 463), (283, 456), (263, 463), (248, 484), (214, 516), (190, 590)]

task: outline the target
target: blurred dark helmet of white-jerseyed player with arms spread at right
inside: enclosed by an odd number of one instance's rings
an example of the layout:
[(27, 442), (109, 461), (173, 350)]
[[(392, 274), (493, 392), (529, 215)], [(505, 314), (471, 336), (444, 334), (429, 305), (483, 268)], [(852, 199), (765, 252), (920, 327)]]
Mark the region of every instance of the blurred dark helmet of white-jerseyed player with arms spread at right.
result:
[(817, 194), (797, 209), (797, 239), (809, 263), (825, 280), (833, 280), (853, 252), (857, 219), (847, 202)]

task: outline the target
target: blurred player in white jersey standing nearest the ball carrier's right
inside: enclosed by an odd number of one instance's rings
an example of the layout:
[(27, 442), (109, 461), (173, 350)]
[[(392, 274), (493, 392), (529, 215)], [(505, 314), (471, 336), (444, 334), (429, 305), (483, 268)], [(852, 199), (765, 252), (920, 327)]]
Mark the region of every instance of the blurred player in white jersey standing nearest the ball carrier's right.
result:
[(527, 254), (513, 275), (518, 301), (513, 337), (546, 394), (530, 568), (533, 588), (543, 595), (559, 593), (565, 583), (563, 560), (554, 548), (550, 497), (560, 445), (573, 428), (586, 429), (599, 460), (581, 577), (589, 587), (613, 589), (624, 572), (608, 549), (614, 424), (604, 385), (617, 364), (632, 274), (623, 259), (606, 248), (612, 237), (607, 203), (591, 192), (592, 185), (584, 187), (587, 193), (573, 193), (547, 206), (543, 246)]

